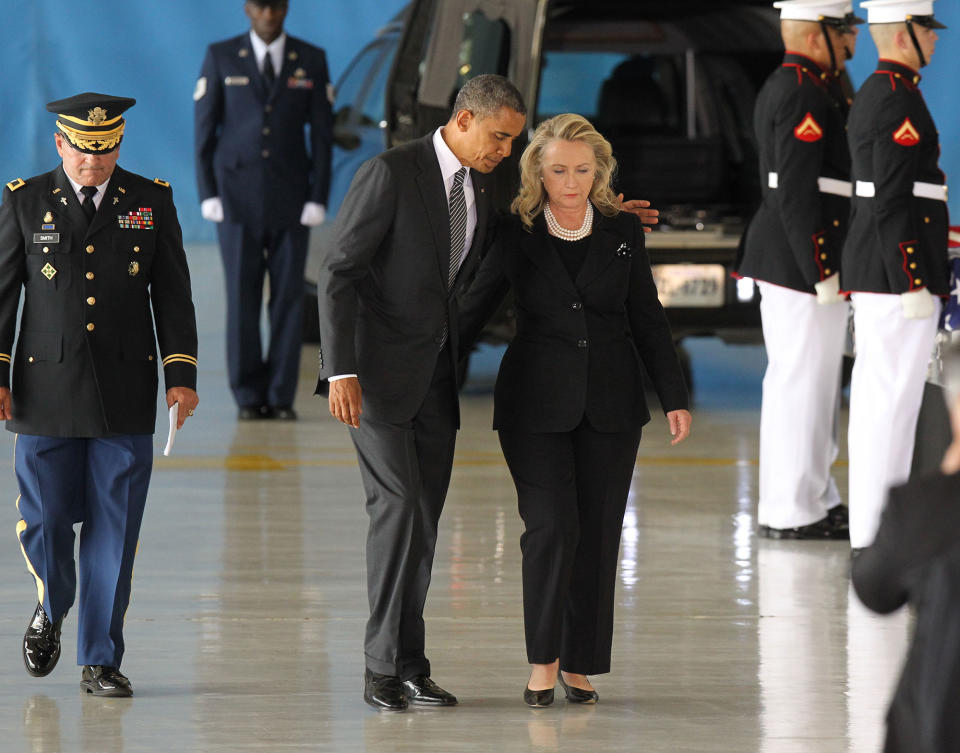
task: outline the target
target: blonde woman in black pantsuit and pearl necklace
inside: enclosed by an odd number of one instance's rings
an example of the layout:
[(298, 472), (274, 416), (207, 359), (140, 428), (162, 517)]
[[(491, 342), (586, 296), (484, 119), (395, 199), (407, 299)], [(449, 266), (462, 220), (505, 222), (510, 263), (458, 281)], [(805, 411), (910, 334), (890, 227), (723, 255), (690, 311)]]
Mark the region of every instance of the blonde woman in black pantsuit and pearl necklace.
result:
[(520, 160), (513, 215), (461, 306), (471, 342), (509, 288), (517, 335), (500, 366), (494, 428), (525, 532), (524, 700), (594, 703), (610, 671), (620, 531), (643, 424), (646, 369), (673, 444), (691, 417), (644, 249), (610, 188), (610, 144), (579, 115), (542, 123)]

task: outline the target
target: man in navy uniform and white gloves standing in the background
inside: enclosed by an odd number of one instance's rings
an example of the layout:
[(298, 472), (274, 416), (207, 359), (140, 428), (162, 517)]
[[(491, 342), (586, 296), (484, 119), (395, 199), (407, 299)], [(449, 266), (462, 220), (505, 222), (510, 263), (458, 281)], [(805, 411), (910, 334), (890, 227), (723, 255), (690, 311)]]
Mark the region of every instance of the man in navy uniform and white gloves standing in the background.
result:
[[(323, 222), (333, 122), (327, 59), (287, 36), (287, 0), (249, 0), (249, 33), (210, 46), (193, 94), (197, 183), (227, 283), (227, 371), (241, 419), (294, 419), (303, 274)], [(307, 130), (309, 129), (309, 151)], [(270, 343), (260, 342), (264, 274)]]

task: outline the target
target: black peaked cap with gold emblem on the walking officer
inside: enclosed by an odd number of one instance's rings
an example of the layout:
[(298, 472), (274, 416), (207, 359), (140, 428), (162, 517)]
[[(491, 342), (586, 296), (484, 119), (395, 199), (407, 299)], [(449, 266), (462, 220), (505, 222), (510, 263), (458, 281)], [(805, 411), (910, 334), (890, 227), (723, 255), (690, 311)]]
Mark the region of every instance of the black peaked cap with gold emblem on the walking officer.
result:
[(120, 146), (126, 125), (123, 112), (136, 103), (129, 97), (84, 92), (48, 102), (47, 110), (57, 114), (57, 128), (74, 149), (105, 154)]

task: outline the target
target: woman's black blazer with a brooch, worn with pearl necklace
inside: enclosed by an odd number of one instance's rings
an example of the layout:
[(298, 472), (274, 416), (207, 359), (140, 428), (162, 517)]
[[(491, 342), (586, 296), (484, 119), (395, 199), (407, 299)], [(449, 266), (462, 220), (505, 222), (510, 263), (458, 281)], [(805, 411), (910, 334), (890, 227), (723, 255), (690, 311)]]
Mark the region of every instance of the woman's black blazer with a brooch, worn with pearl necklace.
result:
[(664, 411), (685, 409), (687, 389), (670, 326), (632, 214), (596, 213), (587, 257), (572, 280), (543, 216), (527, 232), (506, 217), (462, 309), (462, 337), (473, 341), (512, 287), (517, 334), (504, 354), (494, 395), (494, 428), (574, 429), (587, 416), (598, 431), (650, 420), (642, 368)]

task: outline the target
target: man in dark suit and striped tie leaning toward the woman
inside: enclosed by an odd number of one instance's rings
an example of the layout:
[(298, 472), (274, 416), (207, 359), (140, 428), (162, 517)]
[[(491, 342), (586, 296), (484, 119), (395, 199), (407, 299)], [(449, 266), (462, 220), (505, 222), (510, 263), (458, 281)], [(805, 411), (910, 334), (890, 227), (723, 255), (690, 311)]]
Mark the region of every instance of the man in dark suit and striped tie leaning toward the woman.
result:
[(457, 296), (488, 240), (486, 175), (526, 121), (496, 75), (461, 89), (445, 126), (366, 162), (319, 279), (320, 383), (354, 428), (367, 495), (364, 699), (450, 706), (430, 679), (423, 606), (459, 427)]

